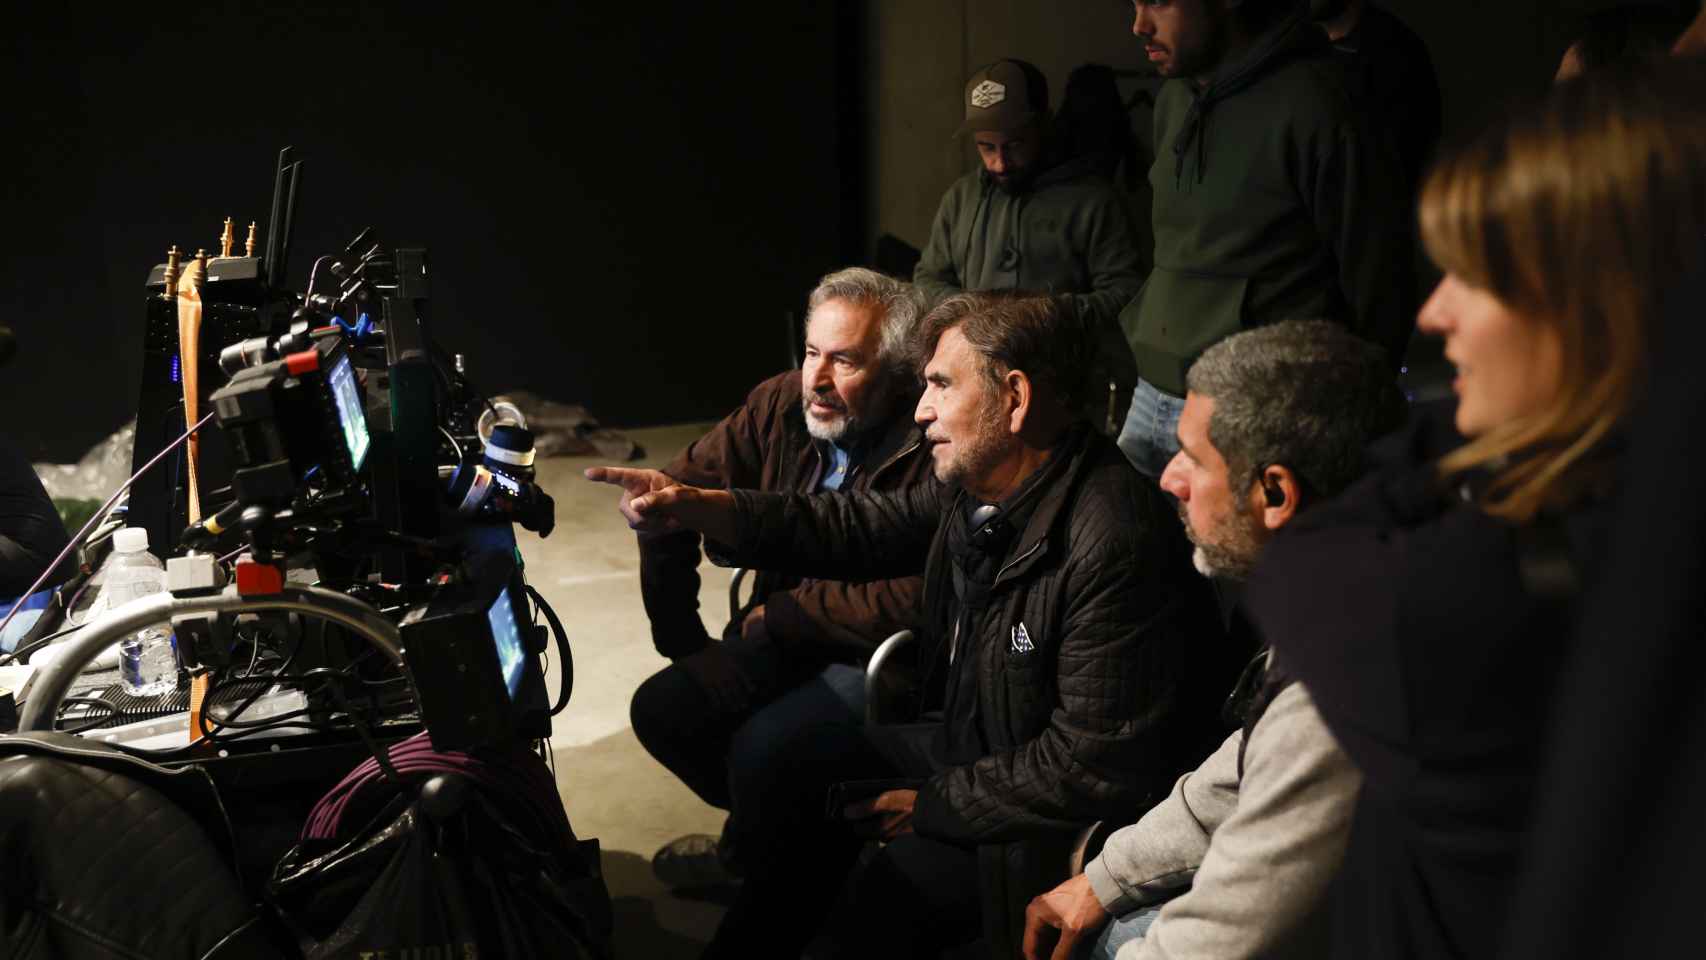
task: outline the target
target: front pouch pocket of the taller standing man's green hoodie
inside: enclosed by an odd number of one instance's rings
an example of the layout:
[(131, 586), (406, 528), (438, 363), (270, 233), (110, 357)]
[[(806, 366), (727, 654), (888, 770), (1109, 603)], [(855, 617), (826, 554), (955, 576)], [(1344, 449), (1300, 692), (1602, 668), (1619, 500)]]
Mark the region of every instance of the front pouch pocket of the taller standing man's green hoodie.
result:
[(1249, 278), (1157, 266), (1121, 315), (1150, 384), (1184, 396), (1184, 372), (1210, 346), (1244, 329)]

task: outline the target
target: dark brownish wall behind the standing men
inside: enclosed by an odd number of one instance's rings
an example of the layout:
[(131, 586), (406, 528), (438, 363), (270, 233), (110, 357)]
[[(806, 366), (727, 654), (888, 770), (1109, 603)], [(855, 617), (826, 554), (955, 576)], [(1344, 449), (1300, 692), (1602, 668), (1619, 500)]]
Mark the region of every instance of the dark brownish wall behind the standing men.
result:
[[(1544, 89), (1587, 10), (1619, 0), (1375, 0), (1404, 20), (1433, 55), (1447, 135), (1483, 123), (1513, 95)], [(1694, 0), (1622, 0), (1691, 9)], [(1697, 9), (1697, 7), (1696, 7)], [(1148, 72), (1131, 36), (1128, 0), (868, 0), (862, 75), (867, 97), (865, 220), (921, 246), (942, 193), (976, 155), (952, 131), (964, 116), (966, 77), (1003, 56), (1036, 63), (1058, 101), (1082, 63)], [(1155, 80), (1124, 78), (1126, 95)], [(1150, 140), (1150, 113), (1133, 113)], [(1141, 189), (1141, 186), (1140, 186)], [(1134, 206), (1146, 211), (1146, 196)]]

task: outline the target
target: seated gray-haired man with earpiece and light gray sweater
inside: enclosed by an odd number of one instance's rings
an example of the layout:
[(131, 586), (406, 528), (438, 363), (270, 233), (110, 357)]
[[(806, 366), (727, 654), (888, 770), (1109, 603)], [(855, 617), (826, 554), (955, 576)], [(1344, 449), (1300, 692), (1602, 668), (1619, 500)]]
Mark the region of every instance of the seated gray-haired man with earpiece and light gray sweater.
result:
[[(1300, 510), (1356, 479), (1363, 448), (1404, 409), (1385, 353), (1320, 321), (1223, 339), (1186, 387), (1162, 488), (1179, 501), (1196, 568), (1227, 593)], [(1269, 651), (1239, 694), (1244, 728), (1080, 876), (1030, 902), (1027, 960), (1061, 960), (1083, 938), (1095, 938), (1090, 957), (1119, 960), (1322, 955), (1315, 907), (1361, 778)]]

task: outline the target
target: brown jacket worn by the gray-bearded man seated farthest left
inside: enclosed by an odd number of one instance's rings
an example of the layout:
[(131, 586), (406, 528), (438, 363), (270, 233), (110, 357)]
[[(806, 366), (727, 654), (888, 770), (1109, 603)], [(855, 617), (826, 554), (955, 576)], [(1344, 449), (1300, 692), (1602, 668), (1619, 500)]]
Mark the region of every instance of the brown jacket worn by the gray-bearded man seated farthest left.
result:
[[(913, 396), (894, 404), (889, 423), (868, 437), (843, 489), (899, 489), (935, 484), (930, 450), (913, 423)], [(693, 486), (812, 493), (824, 464), (822, 445), (805, 431), (800, 372), (764, 380), (664, 472)], [(699, 535), (674, 532), (640, 535), (640, 593), (652, 619), (652, 641), (670, 660), (710, 643), (699, 619)], [(754, 571), (752, 599), (723, 636), (737, 636), (746, 612), (764, 604), (769, 636), (797, 653), (822, 660), (860, 660), (896, 631), (914, 626), (921, 580), (843, 583), (807, 580), (783, 571)]]

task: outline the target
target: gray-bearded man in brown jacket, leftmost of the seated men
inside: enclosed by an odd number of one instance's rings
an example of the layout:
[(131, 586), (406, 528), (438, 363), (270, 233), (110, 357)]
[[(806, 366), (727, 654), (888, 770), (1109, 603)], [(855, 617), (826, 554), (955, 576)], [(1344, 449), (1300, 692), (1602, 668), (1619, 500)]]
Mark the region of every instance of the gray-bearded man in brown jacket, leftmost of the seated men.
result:
[[(850, 268), (807, 300), (805, 360), (771, 377), (664, 472), (710, 488), (815, 493), (930, 483), (911, 421), (909, 348), (921, 307), (909, 283)], [(732, 883), (740, 793), (786, 730), (863, 720), (863, 662), (913, 622), (920, 580), (841, 583), (768, 570), (720, 641), (699, 619), (699, 537), (640, 534), (640, 592), (670, 665), (635, 691), (640, 743), (701, 800), (730, 812), (723, 837), (689, 834), (653, 858), (669, 887)]]

